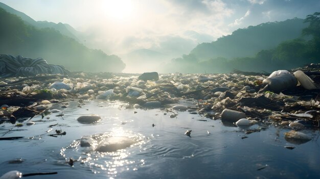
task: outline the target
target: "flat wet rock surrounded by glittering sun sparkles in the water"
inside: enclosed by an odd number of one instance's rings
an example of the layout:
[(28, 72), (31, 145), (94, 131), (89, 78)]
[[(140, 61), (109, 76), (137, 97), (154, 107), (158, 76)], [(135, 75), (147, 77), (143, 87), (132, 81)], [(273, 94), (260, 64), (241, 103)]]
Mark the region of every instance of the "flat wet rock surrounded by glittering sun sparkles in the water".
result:
[(99, 145), (96, 148), (96, 151), (117, 151), (119, 149), (127, 148), (134, 143), (136, 143), (136, 141), (128, 137), (108, 137), (99, 143)]

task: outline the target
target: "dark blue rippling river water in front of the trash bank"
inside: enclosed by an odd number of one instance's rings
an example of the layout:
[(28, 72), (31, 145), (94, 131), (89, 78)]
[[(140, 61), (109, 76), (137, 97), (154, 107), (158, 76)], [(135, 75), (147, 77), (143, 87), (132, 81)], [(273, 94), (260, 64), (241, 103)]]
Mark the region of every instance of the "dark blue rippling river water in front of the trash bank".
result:
[[(60, 106), (54, 104), (52, 109), (62, 110), (63, 118), (53, 113), (43, 119), (34, 117), (34, 125), (0, 124), (1, 136), (24, 137), (0, 141), (0, 176), (18, 170), (58, 172), (28, 178), (320, 177), (317, 130), (303, 130), (312, 140), (295, 144), (284, 138), (290, 129), (275, 125), (255, 124), (250, 129), (261, 129), (260, 132), (245, 134), (237, 126), (225, 126), (219, 119), (187, 111), (134, 109), (126, 103), (106, 100), (86, 101), (81, 108), (76, 100), (68, 101), (65, 109)], [(178, 115), (170, 118), (173, 113)], [(88, 114), (100, 115), (102, 119), (95, 124), (76, 120)], [(47, 133), (53, 124), (57, 125)], [(56, 134), (55, 130), (65, 131), (66, 135), (49, 136)], [(190, 137), (185, 135), (187, 130), (192, 130)], [(125, 136), (136, 143), (115, 152), (80, 147), (82, 136), (93, 135)], [(67, 163), (70, 158), (75, 160), (73, 166)]]

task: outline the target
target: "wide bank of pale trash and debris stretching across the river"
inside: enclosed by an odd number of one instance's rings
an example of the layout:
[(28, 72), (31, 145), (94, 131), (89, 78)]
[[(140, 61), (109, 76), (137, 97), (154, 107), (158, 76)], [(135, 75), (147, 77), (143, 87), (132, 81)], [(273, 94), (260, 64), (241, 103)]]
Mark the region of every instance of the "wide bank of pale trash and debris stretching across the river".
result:
[[(224, 124), (256, 122), (293, 129), (319, 127), (320, 65), (278, 70), (269, 76), (225, 74), (70, 73), (0, 79), (0, 106), (28, 109), (29, 115), (43, 99), (59, 103), (65, 99), (121, 100), (134, 108), (193, 110)], [(194, 106), (179, 105), (193, 101)], [(42, 102), (41, 102), (42, 101)], [(48, 106), (48, 105), (47, 105)], [(42, 110), (48, 108), (44, 105)], [(38, 113), (36, 111), (39, 111)], [(194, 112), (193, 112), (194, 113)], [(10, 115), (9, 115), (10, 114)], [(14, 112), (0, 118), (10, 118)], [(23, 115), (22, 112), (19, 115)], [(16, 116), (15, 116), (16, 117)]]

